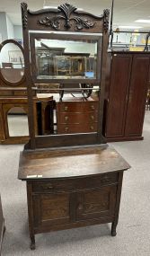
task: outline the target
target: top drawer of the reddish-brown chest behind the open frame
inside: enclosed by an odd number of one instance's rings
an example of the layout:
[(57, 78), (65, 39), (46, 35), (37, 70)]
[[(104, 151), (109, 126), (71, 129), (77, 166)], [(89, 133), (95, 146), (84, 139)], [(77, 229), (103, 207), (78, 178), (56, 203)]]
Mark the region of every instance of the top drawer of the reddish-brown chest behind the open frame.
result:
[(58, 112), (84, 112), (98, 110), (98, 102), (57, 102)]

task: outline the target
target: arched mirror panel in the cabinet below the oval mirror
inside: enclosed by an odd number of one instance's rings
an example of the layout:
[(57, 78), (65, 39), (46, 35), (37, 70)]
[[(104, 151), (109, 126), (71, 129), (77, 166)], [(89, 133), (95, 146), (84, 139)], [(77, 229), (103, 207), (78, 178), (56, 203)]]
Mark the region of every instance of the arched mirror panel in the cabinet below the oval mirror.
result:
[(7, 113), (8, 131), (10, 137), (29, 136), (27, 113), (18, 107), (14, 107)]

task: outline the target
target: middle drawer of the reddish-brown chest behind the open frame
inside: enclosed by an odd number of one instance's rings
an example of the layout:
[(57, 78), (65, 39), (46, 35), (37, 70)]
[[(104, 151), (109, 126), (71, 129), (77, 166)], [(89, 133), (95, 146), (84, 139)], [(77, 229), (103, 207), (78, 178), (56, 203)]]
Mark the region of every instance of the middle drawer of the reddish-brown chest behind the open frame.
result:
[(79, 124), (97, 122), (98, 112), (81, 113), (57, 113), (57, 123), (61, 124)]

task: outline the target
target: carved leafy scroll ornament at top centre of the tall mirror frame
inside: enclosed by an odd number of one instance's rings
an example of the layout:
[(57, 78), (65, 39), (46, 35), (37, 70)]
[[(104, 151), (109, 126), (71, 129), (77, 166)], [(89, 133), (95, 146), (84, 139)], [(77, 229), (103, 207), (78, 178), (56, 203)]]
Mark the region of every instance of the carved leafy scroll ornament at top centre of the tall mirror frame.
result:
[(87, 20), (87, 19), (82, 19), (78, 16), (73, 16), (70, 17), (72, 13), (75, 13), (77, 8), (71, 4), (61, 4), (60, 6), (57, 7), (58, 10), (61, 11), (62, 15), (57, 15), (56, 17), (50, 18), (50, 17), (45, 17), (43, 20), (40, 20), (40, 24), (45, 25), (45, 26), (51, 26), (55, 30), (58, 30), (60, 27), (60, 20), (63, 19), (65, 20), (65, 25), (64, 27), (66, 29), (71, 28), (71, 21), (75, 21), (75, 30), (82, 30), (84, 28), (89, 29), (94, 26), (94, 23)]

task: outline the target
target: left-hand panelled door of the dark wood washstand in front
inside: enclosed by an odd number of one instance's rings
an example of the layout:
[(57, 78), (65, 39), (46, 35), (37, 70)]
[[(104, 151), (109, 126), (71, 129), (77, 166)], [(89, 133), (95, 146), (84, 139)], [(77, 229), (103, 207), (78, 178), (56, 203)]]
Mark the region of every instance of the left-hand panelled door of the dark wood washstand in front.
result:
[(33, 216), (36, 228), (70, 222), (69, 193), (34, 194)]

